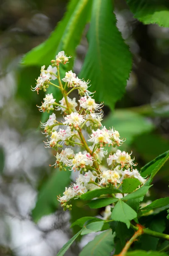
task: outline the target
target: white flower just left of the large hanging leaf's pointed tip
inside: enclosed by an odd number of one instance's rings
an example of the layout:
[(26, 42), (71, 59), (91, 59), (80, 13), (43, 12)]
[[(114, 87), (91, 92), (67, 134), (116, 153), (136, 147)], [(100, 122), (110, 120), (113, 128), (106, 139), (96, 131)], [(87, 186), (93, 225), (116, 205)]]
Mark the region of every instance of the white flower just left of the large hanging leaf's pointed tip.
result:
[(96, 104), (95, 100), (92, 99), (91, 97), (84, 96), (79, 99), (80, 106), (82, 108), (88, 109), (90, 112), (93, 110), (99, 111), (102, 108), (102, 103), (101, 104)]

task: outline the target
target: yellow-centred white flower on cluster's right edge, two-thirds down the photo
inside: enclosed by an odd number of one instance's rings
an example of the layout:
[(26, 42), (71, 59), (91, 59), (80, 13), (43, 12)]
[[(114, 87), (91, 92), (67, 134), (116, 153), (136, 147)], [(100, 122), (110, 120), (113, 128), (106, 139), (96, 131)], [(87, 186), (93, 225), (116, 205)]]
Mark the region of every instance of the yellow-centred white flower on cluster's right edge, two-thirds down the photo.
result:
[(113, 160), (115, 160), (117, 163), (121, 164), (121, 167), (124, 167), (125, 165), (135, 166), (136, 164), (133, 163), (134, 158), (131, 159), (130, 157), (131, 154), (132, 152), (128, 154), (125, 151), (121, 152), (121, 150), (118, 149), (116, 153), (114, 153), (113, 155), (109, 155), (109, 158), (107, 158), (107, 163), (108, 165), (111, 165), (113, 163)]

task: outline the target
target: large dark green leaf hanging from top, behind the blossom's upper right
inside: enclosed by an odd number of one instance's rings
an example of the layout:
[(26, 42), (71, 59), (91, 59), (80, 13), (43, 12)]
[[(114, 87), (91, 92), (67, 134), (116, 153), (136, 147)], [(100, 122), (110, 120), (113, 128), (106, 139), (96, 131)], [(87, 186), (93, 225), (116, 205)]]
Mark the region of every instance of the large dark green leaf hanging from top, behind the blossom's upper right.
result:
[(91, 81), (95, 99), (114, 108), (125, 92), (132, 67), (129, 47), (116, 27), (111, 0), (93, 0), (89, 49), (80, 76)]

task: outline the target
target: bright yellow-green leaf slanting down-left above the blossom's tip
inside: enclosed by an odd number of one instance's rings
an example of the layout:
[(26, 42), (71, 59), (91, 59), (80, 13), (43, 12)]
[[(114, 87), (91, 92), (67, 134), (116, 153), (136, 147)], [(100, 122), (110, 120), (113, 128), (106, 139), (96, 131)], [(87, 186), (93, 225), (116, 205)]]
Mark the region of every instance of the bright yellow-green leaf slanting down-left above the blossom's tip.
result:
[[(67, 12), (58, 23), (50, 37), (28, 52), (22, 59), (27, 66), (49, 65), (59, 51), (75, 57), (75, 49), (79, 44), (83, 29), (88, 21), (91, 2), (88, 0), (71, 0)], [(72, 67), (73, 58), (68, 66)]]

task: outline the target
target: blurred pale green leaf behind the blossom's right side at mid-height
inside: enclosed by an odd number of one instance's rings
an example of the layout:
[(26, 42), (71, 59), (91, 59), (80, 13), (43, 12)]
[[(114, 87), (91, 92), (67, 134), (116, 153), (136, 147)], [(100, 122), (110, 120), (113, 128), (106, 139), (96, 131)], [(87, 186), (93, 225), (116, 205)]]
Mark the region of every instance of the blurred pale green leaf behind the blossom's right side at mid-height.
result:
[(119, 132), (120, 137), (126, 139), (122, 146), (130, 145), (135, 136), (151, 131), (154, 127), (152, 122), (145, 117), (125, 109), (115, 110), (102, 123), (107, 128), (113, 126)]

